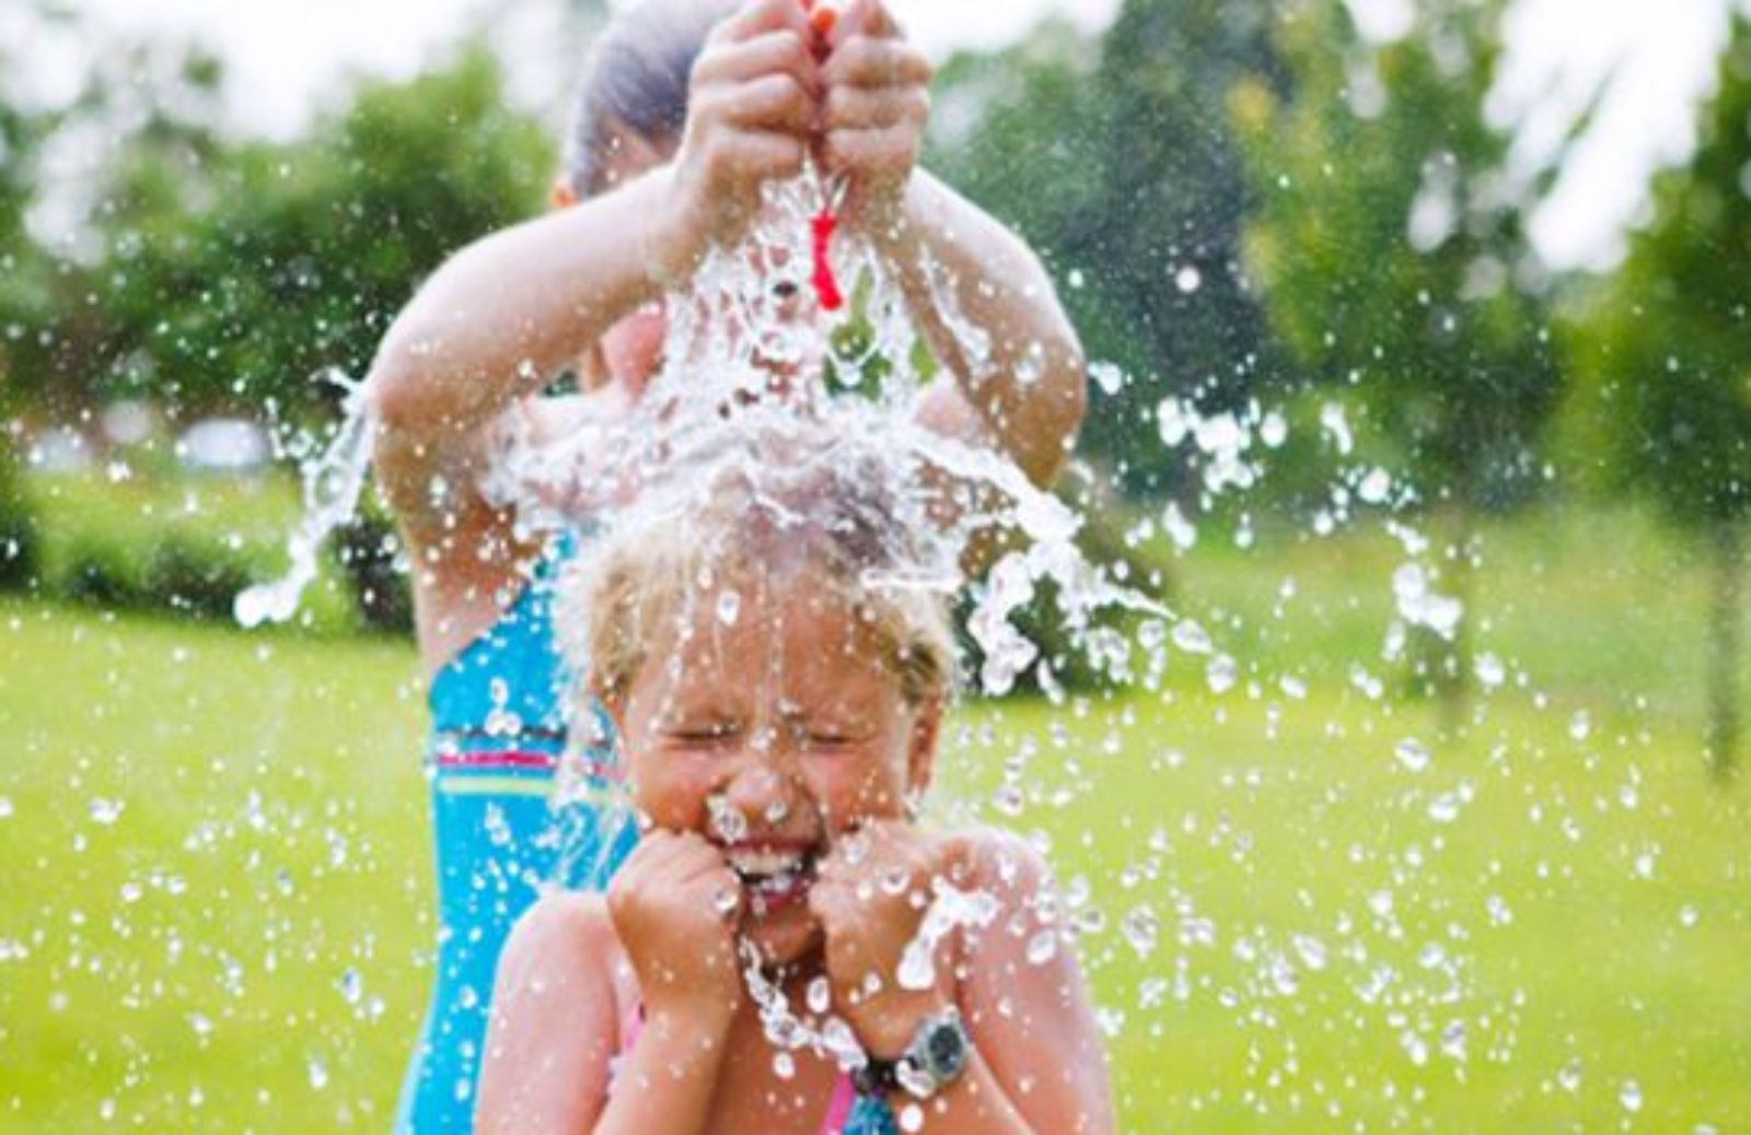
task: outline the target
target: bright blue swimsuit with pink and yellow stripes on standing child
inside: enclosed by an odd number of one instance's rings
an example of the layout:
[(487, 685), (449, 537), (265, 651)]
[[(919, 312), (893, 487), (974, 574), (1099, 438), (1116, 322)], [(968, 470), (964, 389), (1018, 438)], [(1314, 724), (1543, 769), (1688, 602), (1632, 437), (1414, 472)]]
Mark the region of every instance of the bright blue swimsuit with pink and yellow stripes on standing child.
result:
[[(611, 756), (601, 745), (583, 754), (585, 783), (567, 785), (571, 803), (553, 801), (567, 679), (553, 640), (552, 591), (567, 553), (559, 542), (517, 603), (432, 679), (425, 773), (441, 925), (431, 1009), (401, 1088), (397, 1135), (473, 1130), (492, 979), (511, 925), (543, 883), (601, 890), (637, 838), (632, 824), (613, 822), (592, 801), (599, 794), (588, 789), (606, 789), (609, 775)], [(592, 736), (606, 736), (606, 717), (594, 712)]]

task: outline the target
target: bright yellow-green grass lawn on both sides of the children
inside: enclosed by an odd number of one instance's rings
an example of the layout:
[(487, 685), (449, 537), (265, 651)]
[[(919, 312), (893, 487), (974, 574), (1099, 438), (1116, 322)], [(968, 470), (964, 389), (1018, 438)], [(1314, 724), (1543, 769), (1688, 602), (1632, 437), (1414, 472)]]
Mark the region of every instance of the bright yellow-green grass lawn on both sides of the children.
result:
[[(1702, 773), (1702, 579), (1662, 539), (1492, 530), (1480, 647), (1525, 680), (1452, 742), (1350, 684), (1392, 673), (1373, 535), (1180, 563), (1227, 694), (1175, 656), (1161, 694), (960, 712), (944, 811), (1002, 818), (1037, 749), (1005, 822), (1103, 920), (1126, 1132), (1739, 1130), (1751, 799)], [(0, 1128), (383, 1130), (432, 934), (411, 652), (0, 605)]]

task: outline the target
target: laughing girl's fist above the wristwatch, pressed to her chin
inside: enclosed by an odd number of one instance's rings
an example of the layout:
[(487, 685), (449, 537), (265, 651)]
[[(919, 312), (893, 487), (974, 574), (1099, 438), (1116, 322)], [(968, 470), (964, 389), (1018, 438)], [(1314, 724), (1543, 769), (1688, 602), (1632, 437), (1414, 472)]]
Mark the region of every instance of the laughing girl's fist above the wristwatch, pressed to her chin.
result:
[(937, 950), (933, 988), (900, 988), (897, 974), (930, 908), (932, 883), (953, 880), (960, 855), (954, 839), (881, 820), (840, 838), (816, 867), (809, 908), (826, 936), (833, 1000), (872, 1056), (900, 1056), (919, 1023), (956, 1000), (946, 944)]

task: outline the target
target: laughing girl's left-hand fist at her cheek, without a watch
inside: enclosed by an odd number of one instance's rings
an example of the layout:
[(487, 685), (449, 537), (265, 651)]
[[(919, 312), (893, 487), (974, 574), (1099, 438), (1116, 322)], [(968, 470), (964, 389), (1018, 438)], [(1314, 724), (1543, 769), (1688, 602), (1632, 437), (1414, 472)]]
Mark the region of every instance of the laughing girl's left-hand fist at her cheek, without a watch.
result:
[(608, 888), (608, 915), (651, 1013), (727, 1023), (741, 1006), (734, 927), (742, 887), (695, 832), (639, 839)]

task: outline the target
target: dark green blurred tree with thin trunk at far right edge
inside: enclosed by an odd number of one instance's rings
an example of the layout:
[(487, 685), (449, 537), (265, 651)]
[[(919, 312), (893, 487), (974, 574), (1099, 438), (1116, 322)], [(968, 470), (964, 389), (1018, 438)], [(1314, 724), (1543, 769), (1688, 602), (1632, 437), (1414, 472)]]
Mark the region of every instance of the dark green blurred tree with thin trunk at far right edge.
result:
[(1618, 486), (1656, 500), (1712, 560), (1707, 754), (1733, 769), (1751, 526), (1751, 21), (1732, 17), (1690, 164), (1655, 182), (1651, 220), (1574, 320), (1576, 414)]

